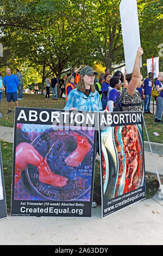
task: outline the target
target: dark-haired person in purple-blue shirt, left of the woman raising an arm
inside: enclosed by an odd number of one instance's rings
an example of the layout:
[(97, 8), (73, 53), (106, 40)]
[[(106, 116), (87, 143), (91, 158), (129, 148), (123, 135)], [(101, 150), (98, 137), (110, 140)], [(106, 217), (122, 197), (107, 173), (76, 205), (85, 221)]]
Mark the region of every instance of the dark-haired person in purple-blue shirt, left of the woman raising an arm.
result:
[(121, 96), (118, 90), (121, 89), (121, 80), (118, 76), (113, 76), (110, 78), (110, 87), (108, 91), (108, 110), (113, 111), (114, 104), (117, 99)]

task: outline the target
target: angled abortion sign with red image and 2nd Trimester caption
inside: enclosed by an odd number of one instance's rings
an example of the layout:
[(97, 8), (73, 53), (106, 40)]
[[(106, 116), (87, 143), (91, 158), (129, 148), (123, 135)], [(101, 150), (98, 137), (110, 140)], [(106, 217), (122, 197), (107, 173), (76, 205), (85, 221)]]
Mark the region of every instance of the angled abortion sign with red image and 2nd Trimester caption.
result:
[(141, 112), (99, 114), (102, 217), (146, 198)]

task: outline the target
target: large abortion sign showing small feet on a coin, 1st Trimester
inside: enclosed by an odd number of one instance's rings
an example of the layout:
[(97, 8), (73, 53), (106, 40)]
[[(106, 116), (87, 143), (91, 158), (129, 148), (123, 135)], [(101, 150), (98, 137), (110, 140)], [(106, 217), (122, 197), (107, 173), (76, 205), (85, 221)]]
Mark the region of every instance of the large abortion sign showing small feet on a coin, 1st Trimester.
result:
[(15, 108), (12, 216), (91, 216), (97, 117)]

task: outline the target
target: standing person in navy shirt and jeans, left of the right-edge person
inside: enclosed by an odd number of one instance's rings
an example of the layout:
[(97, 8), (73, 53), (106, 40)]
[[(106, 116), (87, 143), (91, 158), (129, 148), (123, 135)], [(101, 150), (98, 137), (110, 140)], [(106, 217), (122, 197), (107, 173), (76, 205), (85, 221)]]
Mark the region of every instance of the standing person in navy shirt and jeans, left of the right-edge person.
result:
[(144, 94), (145, 94), (145, 113), (152, 114), (150, 112), (150, 104), (151, 104), (151, 92), (152, 92), (152, 77), (153, 73), (148, 73), (148, 78), (144, 81)]

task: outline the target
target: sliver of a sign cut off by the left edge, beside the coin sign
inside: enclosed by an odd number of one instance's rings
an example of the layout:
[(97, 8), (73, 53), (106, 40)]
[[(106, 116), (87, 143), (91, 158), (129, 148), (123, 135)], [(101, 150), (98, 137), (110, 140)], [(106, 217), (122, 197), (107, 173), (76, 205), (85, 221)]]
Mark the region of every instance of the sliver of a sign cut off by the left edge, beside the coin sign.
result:
[(0, 144), (0, 219), (7, 217), (7, 204), (5, 198), (5, 187), (3, 178), (3, 164)]

